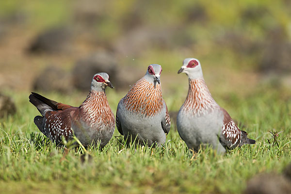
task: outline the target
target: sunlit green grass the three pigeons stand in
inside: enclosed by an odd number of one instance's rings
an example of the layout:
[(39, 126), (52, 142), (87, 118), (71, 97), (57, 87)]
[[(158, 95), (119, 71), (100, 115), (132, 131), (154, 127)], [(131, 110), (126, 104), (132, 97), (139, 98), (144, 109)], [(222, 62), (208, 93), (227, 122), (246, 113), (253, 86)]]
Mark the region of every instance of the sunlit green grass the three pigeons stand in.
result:
[[(18, 110), (0, 120), (0, 193), (237, 194), (246, 187), (247, 179), (261, 172), (280, 173), (291, 162), (291, 99), (279, 90), (261, 88), (248, 97), (217, 99), (257, 140), (256, 145), (223, 156), (208, 148), (192, 158), (172, 121), (164, 147), (125, 147), (116, 130), (103, 151), (87, 149), (92, 156), (88, 162), (81, 162), (80, 149), (65, 155), (63, 148), (46, 141), (33, 124), (38, 113), (27, 93), (8, 93), (15, 97)], [(80, 104), (86, 96), (45, 95), (72, 105)], [(122, 95), (108, 90), (113, 112)], [(170, 111), (176, 111), (184, 100), (178, 94), (164, 98), (172, 103)], [(273, 129), (283, 130), (275, 146), (268, 143), (268, 139), (273, 141), (268, 130)]]

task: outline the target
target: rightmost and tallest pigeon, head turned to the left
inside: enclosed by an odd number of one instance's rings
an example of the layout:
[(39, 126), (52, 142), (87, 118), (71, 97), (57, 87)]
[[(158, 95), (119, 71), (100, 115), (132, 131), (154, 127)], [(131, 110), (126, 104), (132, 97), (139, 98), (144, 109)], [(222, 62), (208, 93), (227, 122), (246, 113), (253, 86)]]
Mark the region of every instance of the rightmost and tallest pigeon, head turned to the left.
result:
[(224, 153), (226, 149), (256, 143), (212, 98), (197, 59), (185, 59), (178, 73), (189, 77), (188, 96), (177, 116), (178, 133), (189, 150), (197, 152), (200, 145), (207, 144)]

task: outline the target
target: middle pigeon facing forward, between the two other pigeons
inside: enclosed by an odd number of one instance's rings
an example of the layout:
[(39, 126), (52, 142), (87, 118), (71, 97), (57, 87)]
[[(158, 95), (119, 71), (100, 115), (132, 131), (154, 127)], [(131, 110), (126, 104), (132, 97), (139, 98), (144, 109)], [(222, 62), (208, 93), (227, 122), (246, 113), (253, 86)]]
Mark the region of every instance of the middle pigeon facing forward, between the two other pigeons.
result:
[(166, 141), (171, 121), (162, 99), (161, 72), (161, 65), (149, 65), (146, 75), (118, 103), (116, 127), (127, 143), (161, 146)]

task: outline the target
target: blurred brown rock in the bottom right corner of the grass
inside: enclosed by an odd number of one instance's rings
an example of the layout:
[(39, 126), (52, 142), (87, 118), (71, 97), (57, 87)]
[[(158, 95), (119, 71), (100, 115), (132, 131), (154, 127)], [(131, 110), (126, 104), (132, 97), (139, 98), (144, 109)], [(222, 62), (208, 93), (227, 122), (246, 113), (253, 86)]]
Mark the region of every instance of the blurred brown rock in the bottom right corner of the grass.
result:
[(257, 175), (247, 182), (244, 194), (291, 194), (291, 181), (282, 175)]

